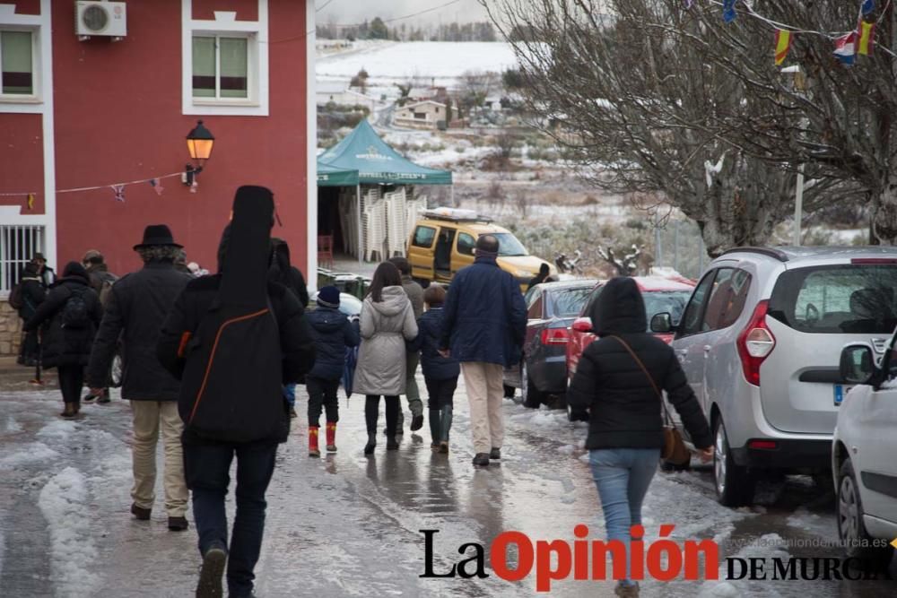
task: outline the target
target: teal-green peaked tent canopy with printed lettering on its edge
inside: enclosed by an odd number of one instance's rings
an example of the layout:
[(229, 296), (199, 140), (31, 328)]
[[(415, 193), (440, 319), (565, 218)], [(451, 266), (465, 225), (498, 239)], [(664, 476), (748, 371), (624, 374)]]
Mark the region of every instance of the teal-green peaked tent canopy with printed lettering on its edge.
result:
[[(362, 185), (451, 185), (451, 171), (428, 169), (418, 166), (402, 155), (386, 142), (370, 126), (367, 120), (361, 120), (355, 130), (343, 141), (322, 153), (318, 157), (318, 186), (336, 185), (322, 183), (320, 166), (327, 166), (341, 171), (357, 170), (357, 182)], [(355, 185), (355, 183), (346, 183)]]

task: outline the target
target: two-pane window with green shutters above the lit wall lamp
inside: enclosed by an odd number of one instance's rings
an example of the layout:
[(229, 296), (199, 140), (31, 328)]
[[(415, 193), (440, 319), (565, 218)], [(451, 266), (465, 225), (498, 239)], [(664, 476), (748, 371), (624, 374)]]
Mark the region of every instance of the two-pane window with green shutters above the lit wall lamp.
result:
[(255, 102), (257, 48), (253, 35), (196, 31), (192, 87), (195, 103)]

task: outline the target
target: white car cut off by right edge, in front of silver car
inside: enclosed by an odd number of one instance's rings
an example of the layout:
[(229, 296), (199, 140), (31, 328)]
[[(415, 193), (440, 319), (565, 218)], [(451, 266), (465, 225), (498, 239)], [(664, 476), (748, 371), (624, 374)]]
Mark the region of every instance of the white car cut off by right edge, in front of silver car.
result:
[(866, 568), (886, 568), (897, 545), (895, 341), (851, 343), (841, 352), (845, 397), (832, 442), (838, 535), (848, 557)]

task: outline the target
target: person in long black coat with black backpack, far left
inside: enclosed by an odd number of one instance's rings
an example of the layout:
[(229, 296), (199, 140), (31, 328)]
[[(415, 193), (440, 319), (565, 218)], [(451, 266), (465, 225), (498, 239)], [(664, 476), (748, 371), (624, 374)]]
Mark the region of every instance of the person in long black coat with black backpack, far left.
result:
[(83, 265), (65, 264), (62, 278), (53, 284), (47, 299), (24, 326), (26, 332), (43, 326), (41, 363), (44, 368), (57, 368), (65, 402), (61, 415), (65, 418), (73, 418), (81, 410), (84, 366), (103, 316), (100, 297), (90, 285)]

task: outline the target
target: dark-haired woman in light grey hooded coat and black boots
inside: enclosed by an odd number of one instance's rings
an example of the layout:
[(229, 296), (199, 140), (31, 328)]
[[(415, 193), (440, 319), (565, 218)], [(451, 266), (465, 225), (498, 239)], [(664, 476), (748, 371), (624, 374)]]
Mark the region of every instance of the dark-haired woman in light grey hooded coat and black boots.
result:
[(402, 288), (402, 275), (395, 264), (377, 266), (368, 296), (361, 305), (361, 346), (355, 368), (353, 392), (366, 395), (364, 419), (368, 444), (364, 454), (377, 446), (380, 395), (387, 406), (387, 449), (398, 448), (396, 423), (398, 395), (405, 394), (405, 341), (417, 337), (414, 309)]

